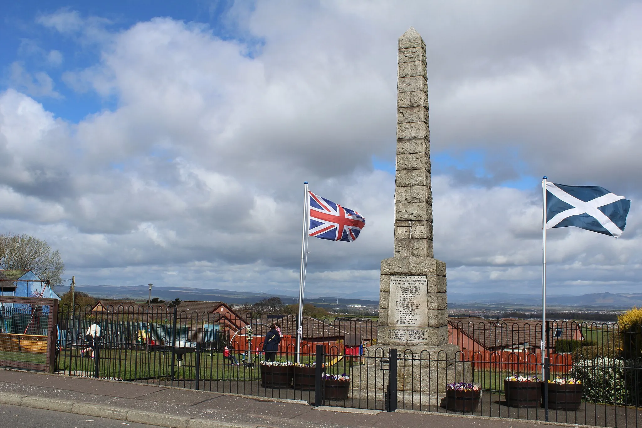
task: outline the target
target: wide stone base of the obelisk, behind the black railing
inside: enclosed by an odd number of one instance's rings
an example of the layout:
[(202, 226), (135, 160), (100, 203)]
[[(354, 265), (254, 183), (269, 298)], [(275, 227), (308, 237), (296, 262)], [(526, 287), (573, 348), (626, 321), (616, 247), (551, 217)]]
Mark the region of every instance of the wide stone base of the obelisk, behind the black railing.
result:
[[(351, 398), (382, 400), (388, 388), (390, 345), (365, 349), (363, 363), (350, 368)], [(446, 384), (471, 382), (471, 363), (455, 361), (456, 345), (397, 348), (397, 398), (405, 402), (439, 404)]]

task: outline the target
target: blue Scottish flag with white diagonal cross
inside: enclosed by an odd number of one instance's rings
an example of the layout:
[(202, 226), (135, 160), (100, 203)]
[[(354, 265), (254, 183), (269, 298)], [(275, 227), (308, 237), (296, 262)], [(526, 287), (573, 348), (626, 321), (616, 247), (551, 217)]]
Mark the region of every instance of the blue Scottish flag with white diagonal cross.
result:
[(575, 226), (619, 237), (631, 201), (600, 186), (546, 182), (546, 228)]

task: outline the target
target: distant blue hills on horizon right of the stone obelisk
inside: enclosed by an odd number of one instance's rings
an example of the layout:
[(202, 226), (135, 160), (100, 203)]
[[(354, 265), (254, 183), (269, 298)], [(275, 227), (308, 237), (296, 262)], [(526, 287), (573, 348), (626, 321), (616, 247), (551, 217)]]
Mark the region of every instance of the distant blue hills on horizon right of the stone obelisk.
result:
[[(542, 295), (508, 293), (448, 293), (448, 302), (455, 304), (541, 304)], [(546, 296), (547, 305), (632, 307), (642, 305), (642, 293), (590, 293), (582, 296)]]

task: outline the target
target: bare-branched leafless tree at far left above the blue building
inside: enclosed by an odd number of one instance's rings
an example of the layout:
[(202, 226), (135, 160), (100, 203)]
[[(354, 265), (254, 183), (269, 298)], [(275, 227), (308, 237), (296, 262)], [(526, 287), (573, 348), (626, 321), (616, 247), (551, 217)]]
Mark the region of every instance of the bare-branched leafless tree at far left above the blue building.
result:
[(0, 234), (0, 268), (28, 269), (40, 279), (60, 285), (65, 264), (58, 250), (51, 251), (45, 241), (30, 235)]

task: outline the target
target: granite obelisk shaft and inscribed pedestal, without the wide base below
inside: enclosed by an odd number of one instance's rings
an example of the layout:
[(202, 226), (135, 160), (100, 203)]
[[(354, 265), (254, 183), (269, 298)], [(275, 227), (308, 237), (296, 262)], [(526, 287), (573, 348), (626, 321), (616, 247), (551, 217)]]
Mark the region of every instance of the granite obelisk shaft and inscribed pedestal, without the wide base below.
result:
[(447, 342), (446, 264), (433, 258), (426, 44), (414, 28), (399, 38), (394, 257), (381, 262), (377, 343)]

